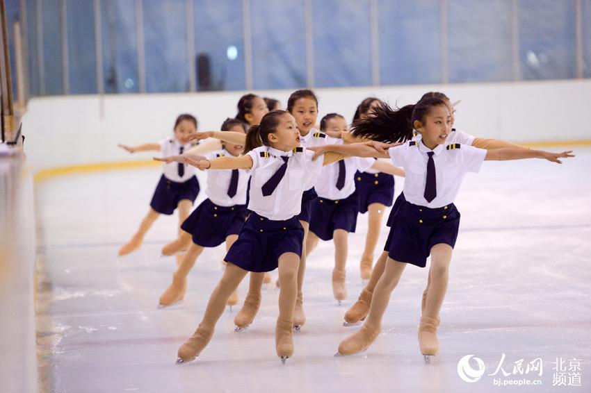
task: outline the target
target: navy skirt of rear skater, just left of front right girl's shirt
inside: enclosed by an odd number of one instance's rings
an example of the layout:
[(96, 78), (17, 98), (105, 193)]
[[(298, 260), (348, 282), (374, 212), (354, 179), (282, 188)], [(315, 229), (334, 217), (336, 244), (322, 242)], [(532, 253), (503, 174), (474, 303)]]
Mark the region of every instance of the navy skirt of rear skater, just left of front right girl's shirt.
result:
[(359, 212), (367, 212), (372, 203), (382, 203), (384, 206), (392, 206), (394, 201), (394, 176), (378, 172), (368, 174), (357, 172), (355, 174), (355, 189), (359, 194)]

